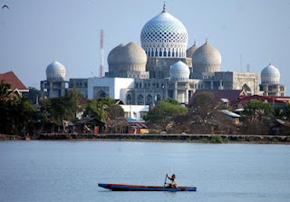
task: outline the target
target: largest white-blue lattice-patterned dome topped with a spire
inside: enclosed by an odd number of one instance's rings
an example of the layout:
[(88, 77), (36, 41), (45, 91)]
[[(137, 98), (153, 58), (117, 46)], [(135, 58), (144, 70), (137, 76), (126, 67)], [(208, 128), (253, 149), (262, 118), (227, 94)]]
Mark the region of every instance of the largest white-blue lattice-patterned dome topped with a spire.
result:
[(144, 25), (140, 39), (148, 57), (186, 57), (188, 31), (178, 19), (166, 12), (165, 5), (161, 14)]

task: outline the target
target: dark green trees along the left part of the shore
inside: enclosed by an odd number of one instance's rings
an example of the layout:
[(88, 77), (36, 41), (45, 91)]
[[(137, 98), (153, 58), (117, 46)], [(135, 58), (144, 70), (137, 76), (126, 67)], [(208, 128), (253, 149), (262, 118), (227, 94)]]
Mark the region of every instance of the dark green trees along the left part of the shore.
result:
[(28, 93), (17, 96), (10, 90), (11, 85), (0, 82), (0, 133), (24, 135), (41, 131), (47, 125), (59, 125), (66, 132), (67, 121), (78, 120), (77, 115), (93, 117), (107, 122), (123, 117), (121, 106), (111, 98), (88, 100), (80, 105), (82, 94), (76, 89), (67, 91), (60, 98), (44, 99), (37, 103), (40, 91), (29, 88)]

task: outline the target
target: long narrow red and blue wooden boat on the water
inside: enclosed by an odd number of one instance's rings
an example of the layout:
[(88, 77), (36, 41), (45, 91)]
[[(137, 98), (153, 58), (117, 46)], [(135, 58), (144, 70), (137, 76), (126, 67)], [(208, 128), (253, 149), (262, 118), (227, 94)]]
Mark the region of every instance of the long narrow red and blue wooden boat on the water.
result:
[(123, 184), (98, 184), (101, 188), (108, 188), (112, 191), (196, 191), (196, 187), (168, 188), (158, 186), (123, 185)]

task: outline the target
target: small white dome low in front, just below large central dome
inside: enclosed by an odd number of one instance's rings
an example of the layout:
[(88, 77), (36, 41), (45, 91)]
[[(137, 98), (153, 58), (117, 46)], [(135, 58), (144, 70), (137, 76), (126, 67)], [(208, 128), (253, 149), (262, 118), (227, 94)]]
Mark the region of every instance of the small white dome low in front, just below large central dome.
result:
[(174, 63), (170, 68), (170, 80), (173, 81), (188, 81), (189, 74), (189, 66), (181, 61)]

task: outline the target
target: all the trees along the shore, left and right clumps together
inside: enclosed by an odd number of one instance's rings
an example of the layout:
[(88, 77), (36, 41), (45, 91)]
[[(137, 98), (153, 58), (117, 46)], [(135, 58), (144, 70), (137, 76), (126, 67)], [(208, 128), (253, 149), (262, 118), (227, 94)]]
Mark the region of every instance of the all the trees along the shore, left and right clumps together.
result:
[[(121, 106), (108, 97), (80, 105), (82, 94), (72, 89), (63, 97), (44, 99), (37, 104), (40, 91), (29, 88), (28, 94), (16, 96), (9, 91), (10, 87), (8, 83), (0, 82), (0, 133), (32, 133), (49, 124), (59, 125), (66, 132), (65, 122), (78, 120), (80, 112), (83, 112), (82, 117), (93, 117), (104, 123), (124, 116)], [(265, 101), (247, 101), (238, 125), (225, 119), (220, 113), (223, 109), (232, 111), (231, 106), (224, 106), (213, 93), (203, 92), (186, 107), (170, 98), (159, 101), (144, 120), (151, 132), (189, 134), (273, 134), (277, 119), (290, 121), (289, 104), (281, 107)]]

